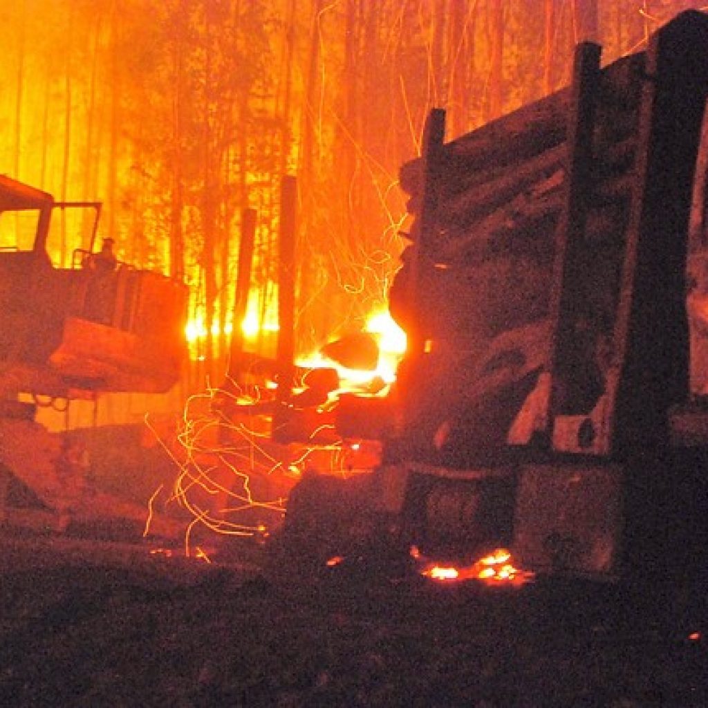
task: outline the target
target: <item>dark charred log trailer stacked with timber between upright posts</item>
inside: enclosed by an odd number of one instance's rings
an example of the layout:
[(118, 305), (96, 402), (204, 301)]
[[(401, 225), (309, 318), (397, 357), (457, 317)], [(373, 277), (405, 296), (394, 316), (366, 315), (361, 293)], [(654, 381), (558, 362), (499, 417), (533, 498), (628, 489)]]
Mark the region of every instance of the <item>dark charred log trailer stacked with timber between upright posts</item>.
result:
[[(433, 559), (705, 569), (707, 97), (708, 16), (689, 11), (605, 67), (578, 45), (569, 87), (450, 142), (432, 110), (400, 173), (389, 307), (409, 346), (382, 464), (342, 514)], [(302, 484), (295, 527), (336, 496), (317, 508)]]

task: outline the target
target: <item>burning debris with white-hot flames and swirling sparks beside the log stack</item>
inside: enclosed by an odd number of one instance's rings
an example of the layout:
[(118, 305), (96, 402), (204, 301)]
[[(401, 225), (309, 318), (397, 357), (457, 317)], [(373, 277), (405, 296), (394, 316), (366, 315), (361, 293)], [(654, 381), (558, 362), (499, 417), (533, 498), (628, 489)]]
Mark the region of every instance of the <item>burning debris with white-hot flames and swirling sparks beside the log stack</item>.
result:
[[(371, 321), (375, 331), (333, 341), (317, 356), (299, 360), (298, 385), (282, 403), (267, 382), (241, 387), (231, 381), (189, 399), (177, 445), (166, 445), (180, 472), (165, 500), (190, 513), (188, 535), (207, 530), (265, 538), (282, 525), (286, 506), (289, 518), (311, 517), (314, 509), (298, 510), (297, 501), (303, 491), (308, 496), (311, 485), (334, 489), (379, 464), (379, 440), (343, 438), (336, 426), (341, 401), (351, 401), (349, 396), (383, 401), (383, 389), (393, 380), (401, 337), (387, 333), (387, 327), (397, 329), (390, 318), (375, 315)], [(394, 351), (386, 349), (391, 341)], [(323, 514), (335, 518), (336, 509), (342, 510), (338, 496), (336, 491), (328, 496)], [(347, 506), (353, 502), (348, 494), (344, 498)], [(348, 510), (355, 514), (357, 508), (354, 503)], [(335, 525), (343, 530), (351, 520)], [(302, 544), (308, 535), (309, 543), (318, 542), (315, 536), (324, 542), (324, 535), (314, 532), (322, 521), (302, 536)], [(291, 527), (288, 533), (302, 535)]]

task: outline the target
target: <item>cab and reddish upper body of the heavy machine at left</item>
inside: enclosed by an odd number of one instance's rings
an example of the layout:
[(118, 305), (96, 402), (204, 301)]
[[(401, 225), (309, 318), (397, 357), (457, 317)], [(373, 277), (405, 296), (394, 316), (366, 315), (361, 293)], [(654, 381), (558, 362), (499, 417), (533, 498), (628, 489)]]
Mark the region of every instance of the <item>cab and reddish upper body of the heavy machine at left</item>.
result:
[(100, 202), (56, 202), (0, 176), (5, 397), (165, 392), (178, 380), (186, 287), (115, 257), (95, 267), (100, 215)]

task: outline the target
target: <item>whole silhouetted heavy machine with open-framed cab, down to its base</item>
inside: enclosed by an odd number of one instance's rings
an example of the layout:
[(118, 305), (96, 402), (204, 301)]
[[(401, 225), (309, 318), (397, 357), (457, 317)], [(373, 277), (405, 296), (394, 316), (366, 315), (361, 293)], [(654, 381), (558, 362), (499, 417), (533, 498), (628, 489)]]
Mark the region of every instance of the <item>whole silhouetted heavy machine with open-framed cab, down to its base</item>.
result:
[(100, 215), (101, 202), (59, 202), (0, 176), (0, 522), (25, 525), (9, 499), (21, 489), (53, 525), (81, 481), (76, 450), (35, 422), (38, 406), (166, 392), (181, 375), (186, 285), (98, 249)]

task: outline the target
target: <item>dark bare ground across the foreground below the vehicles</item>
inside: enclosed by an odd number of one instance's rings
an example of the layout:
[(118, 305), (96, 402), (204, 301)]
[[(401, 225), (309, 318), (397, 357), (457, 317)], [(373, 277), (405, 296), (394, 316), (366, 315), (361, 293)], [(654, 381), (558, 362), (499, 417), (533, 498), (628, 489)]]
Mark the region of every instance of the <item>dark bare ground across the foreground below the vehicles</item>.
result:
[(708, 706), (702, 594), (263, 573), (89, 531), (0, 534), (0, 706)]

